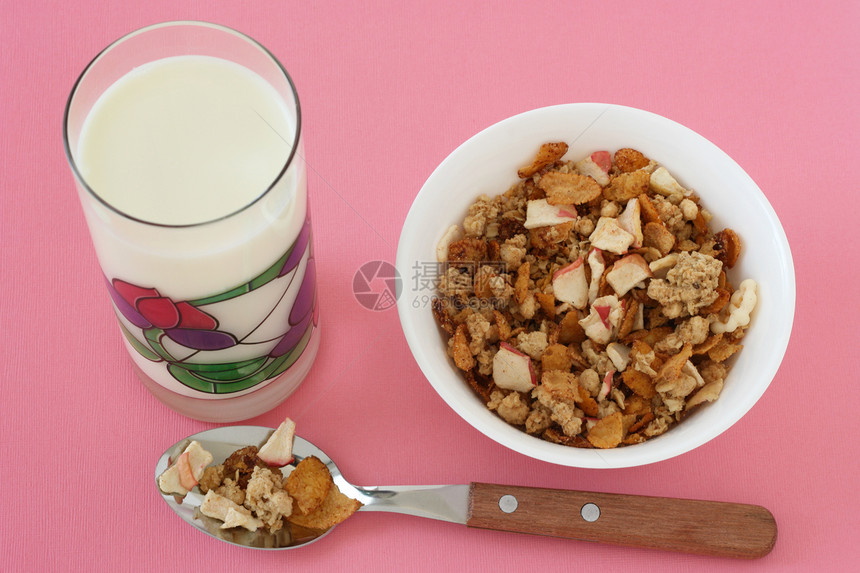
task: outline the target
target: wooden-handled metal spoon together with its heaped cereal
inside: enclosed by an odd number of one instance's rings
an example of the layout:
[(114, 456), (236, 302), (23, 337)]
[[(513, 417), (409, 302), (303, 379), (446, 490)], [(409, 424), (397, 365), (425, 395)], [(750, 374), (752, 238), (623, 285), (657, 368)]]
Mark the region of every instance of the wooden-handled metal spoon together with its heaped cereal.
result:
[(255, 549), (313, 543), (358, 510), (744, 559), (767, 555), (777, 532), (757, 505), (487, 483), (359, 487), (289, 419), (277, 430), (225, 426), (189, 436), (159, 458), (155, 477), (188, 524)]

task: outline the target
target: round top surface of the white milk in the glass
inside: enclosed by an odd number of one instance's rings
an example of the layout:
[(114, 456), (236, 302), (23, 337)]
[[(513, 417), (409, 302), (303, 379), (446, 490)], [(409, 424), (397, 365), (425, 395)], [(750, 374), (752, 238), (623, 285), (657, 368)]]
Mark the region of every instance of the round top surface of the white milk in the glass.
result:
[(261, 195), (290, 154), (294, 120), (275, 89), (238, 64), (178, 56), (108, 88), (81, 130), (79, 164), (105, 201), (145, 221), (185, 225)]

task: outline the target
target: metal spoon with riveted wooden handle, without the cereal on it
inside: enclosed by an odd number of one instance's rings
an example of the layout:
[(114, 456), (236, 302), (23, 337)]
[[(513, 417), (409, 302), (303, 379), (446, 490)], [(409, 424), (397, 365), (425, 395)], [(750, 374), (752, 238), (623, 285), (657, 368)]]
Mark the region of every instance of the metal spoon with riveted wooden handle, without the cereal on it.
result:
[[(262, 445), (272, 432), (259, 426), (224, 426), (189, 436), (159, 458), (156, 488), (169, 460), (176, 459), (190, 440), (212, 452), (217, 464), (239, 448)], [(757, 505), (485, 483), (358, 487), (347, 482), (331, 458), (307, 440), (296, 436), (293, 454), (296, 463), (308, 456), (319, 458), (340, 491), (364, 504), (362, 511), (405, 513), (481, 529), (745, 559), (767, 555), (776, 542), (773, 515)], [(192, 526), (244, 547), (302, 547), (331, 531), (320, 535), (285, 528), (272, 535), (262, 530), (221, 529), (220, 521), (198, 511), (203, 495), (197, 488), (181, 500), (161, 495)]]

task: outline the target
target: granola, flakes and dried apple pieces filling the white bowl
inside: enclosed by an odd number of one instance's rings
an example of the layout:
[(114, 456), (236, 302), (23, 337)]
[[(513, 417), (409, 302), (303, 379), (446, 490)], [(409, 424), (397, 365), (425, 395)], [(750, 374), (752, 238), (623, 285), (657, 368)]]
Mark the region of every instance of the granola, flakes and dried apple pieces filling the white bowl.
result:
[(741, 244), (634, 149), (563, 160), (541, 146), (437, 246), (433, 314), (490, 410), (545, 440), (614, 448), (716, 400), (756, 284), (726, 276)]

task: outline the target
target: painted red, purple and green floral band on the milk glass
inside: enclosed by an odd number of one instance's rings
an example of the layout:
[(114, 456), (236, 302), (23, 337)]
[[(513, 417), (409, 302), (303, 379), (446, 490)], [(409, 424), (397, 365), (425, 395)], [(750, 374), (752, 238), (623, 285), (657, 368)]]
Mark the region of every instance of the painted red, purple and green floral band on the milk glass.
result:
[[(172, 300), (157, 288), (107, 280), (123, 334), (143, 357), (164, 362), (178, 382), (209, 394), (252, 388), (298, 360), (319, 322), (310, 219), (268, 269), (228, 291)], [(251, 325), (232, 320), (242, 305), (266, 304)]]

